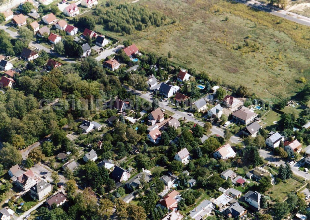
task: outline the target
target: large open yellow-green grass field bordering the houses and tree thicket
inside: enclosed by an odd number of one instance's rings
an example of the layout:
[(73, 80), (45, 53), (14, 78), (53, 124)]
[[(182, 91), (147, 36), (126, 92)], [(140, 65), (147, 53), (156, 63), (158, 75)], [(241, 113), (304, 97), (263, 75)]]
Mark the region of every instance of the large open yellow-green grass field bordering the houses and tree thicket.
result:
[(246, 85), (264, 100), (290, 97), (310, 77), (310, 29), (254, 11), (243, 4), (210, 0), (140, 0), (175, 23), (132, 35), (96, 31), (120, 40), (131, 39), (142, 51), (167, 55), (181, 67), (206, 71), (225, 84)]

